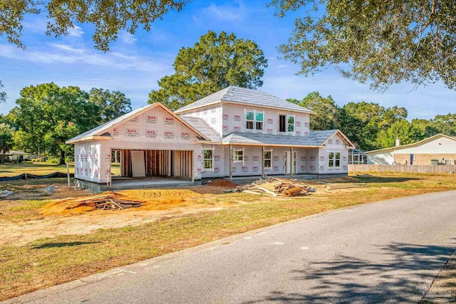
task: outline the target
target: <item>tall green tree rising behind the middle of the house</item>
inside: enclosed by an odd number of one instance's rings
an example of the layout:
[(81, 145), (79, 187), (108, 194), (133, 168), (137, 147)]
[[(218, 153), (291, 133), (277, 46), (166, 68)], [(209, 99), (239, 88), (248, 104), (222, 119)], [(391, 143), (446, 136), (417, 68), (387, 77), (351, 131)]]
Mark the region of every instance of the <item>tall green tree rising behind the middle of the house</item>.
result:
[(229, 85), (258, 88), (267, 60), (257, 43), (234, 33), (208, 31), (195, 46), (181, 48), (173, 64), (175, 73), (158, 80), (149, 103), (176, 110)]

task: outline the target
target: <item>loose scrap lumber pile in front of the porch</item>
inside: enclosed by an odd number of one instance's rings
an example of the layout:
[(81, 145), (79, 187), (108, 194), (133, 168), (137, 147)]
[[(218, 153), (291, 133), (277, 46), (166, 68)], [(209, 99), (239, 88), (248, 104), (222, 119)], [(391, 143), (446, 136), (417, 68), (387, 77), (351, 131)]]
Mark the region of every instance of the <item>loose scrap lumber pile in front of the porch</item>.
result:
[(309, 195), (309, 192), (314, 191), (314, 187), (311, 187), (309, 184), (304, 184), (303, 182), (300, 182), (296, 179), (281, 179), (276, 177), (258, 179), (252, 184), (244, 185), (234, 189), (234, 192), (287, 197), (296, 195)]

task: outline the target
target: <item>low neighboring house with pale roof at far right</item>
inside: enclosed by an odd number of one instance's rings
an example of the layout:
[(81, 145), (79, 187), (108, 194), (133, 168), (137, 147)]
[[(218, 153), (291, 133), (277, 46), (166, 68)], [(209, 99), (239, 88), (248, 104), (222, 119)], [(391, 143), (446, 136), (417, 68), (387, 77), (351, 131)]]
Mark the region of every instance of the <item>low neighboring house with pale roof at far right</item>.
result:
[(437, 134), (410, 145), (373, 150), (368, 164), (455, 164), (456, 138)]

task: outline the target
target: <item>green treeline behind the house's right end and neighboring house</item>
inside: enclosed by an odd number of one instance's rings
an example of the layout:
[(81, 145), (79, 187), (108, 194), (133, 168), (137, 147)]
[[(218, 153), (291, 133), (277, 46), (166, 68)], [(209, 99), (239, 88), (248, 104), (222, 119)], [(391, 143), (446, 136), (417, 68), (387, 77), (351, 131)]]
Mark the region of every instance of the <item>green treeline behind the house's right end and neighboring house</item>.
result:
[(409, 122), (405, 108), (385, 108), (364, 101), (339, 107), (331, 95), (323, 98), (318, 92), (310, 93), (302, 100), (289, 101), (316, 112), (311, 116), (312, 130), (340, 129), (361, 150), (393, 147), (396, 138), (400, 139), (401, 145), (406, 145), (438, 133), (456, 135), (456, 114)]

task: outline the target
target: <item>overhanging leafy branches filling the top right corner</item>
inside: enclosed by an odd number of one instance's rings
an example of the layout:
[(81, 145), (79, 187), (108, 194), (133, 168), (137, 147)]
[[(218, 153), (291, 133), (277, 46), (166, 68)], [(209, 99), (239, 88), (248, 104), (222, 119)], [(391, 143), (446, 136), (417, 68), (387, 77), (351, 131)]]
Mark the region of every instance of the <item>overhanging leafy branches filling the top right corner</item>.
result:
[(274, 0), (276, 14), (306, 9), (279, 47), (314, 74), (332, 65), (347, 78), (385, 90), (402, 80), (442, 80), (456, 89), (454, 0)]

